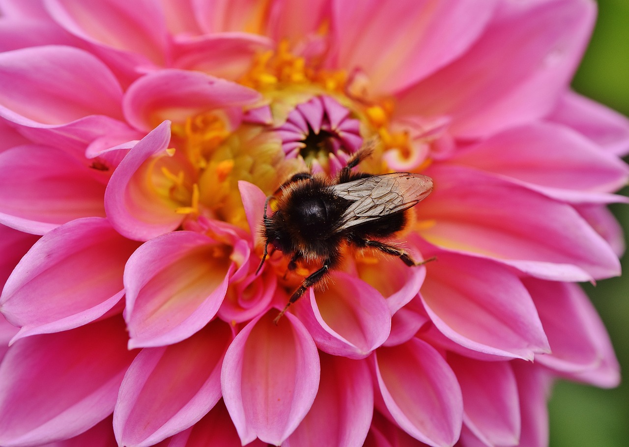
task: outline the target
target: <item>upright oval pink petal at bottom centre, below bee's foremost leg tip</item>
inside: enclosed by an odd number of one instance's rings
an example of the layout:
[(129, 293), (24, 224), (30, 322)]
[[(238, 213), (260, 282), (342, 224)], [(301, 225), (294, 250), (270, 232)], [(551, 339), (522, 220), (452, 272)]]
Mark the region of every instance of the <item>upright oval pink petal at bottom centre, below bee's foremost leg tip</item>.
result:
[(257, 317), (225, 354), (223, 399), (242, 444), (260, 438), (281, 444), (315, 400), (320, 363), (315, 343), (299, 320), (286, 314)]

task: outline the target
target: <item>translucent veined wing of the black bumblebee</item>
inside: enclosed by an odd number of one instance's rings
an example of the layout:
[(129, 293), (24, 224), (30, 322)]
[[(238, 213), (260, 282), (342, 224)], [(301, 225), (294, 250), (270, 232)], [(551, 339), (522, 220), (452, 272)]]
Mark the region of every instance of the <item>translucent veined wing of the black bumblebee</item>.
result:
[(409, 172), (374, 175), (331, 186), (334, 194), (352, 201), (337, 231), (405, 211), (425, 199), (432, 190), (430, 177)]

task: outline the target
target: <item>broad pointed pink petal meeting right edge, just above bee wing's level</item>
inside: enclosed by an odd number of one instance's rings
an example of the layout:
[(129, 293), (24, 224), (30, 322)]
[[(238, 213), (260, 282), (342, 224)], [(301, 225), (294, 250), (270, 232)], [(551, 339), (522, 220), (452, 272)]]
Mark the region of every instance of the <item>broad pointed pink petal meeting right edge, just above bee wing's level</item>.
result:
[[(618, 157), (569, 128), (539, 123), (491, 136), (451, 160), (525, 184), (558, 199), (591, 200), (590, 192), (613, 192), (629, 178), (629, 168)], [(576, 194), (562, 194), (569, 190)]]

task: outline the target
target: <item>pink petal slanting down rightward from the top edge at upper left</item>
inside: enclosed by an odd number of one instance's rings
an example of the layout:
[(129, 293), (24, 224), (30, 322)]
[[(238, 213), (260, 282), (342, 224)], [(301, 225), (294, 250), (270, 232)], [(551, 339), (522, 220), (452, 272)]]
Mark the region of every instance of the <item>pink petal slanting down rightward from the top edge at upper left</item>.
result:
[(160, 65), (167, 58), (166, 23), (155, 1), (48, 0), (46, 6), (65, 30), (97, 47), (142, 55)]

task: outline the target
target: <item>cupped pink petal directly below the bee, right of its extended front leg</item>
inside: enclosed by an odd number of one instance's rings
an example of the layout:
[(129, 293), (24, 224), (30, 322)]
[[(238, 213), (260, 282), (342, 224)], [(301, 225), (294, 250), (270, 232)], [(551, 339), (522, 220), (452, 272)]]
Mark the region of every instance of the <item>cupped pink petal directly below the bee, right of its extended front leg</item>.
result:
[(332, 355), (365, 358), (391, 331), (384, 297), (348, 273), (335, 272), (325, 290), (310, 289), (295, 307), (317, 347)]

